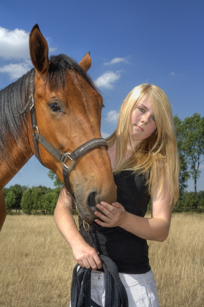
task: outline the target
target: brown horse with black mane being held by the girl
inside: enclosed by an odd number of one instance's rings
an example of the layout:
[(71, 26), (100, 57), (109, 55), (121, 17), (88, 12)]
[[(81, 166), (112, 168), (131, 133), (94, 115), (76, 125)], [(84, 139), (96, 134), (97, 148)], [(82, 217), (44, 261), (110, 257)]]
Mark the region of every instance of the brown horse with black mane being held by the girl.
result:
[[(86, 73), (89, 52), (79, 64), (66, 55), (49, 60), (38, 25), (32, 28), (29, 45), (34, 68), (0, 91), (0, 229), (6, 217), (3, 187), (33, 154), (68, 182), (79, 214), (92, 221), (97, 203), (115, 201), (116, 187), (100, 134), (103, 100)], [(73, 158), (69, 153), (77, 148), (76, 155), (83, 155)]]

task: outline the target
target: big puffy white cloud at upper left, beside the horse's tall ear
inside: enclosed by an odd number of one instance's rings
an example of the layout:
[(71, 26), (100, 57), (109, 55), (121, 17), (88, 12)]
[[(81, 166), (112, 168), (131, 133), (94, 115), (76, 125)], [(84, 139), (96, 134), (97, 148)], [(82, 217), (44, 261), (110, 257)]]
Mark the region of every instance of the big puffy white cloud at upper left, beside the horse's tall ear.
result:
[(0, 56), (7, 60), (29, 58), (29, 33), (0, 27)]

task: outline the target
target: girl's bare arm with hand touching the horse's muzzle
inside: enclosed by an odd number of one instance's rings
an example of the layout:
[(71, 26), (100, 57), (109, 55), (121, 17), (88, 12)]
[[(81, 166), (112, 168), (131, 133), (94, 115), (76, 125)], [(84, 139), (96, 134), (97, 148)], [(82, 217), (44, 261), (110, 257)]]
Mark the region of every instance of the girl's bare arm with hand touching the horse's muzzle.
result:
[(168, 181), (165, 175), (163, 194), (158, 197), (156, 192), (151, 198), (151, 218), (144, 218), (128, 213), (123, 206), (117, 202), (111, 205), (101, 202), (101, 204), (97, 205), (97, 208), (100, 209), (104, 215), (100, 212), (95, 212), (95, 215), (102, 220), (96, 219), (95, 221), (103, 227), (119, 226), (142, 239), (162, 242), (168, 236), (171, 223), (172, 204), (170, 204), (170, 201), (171, 197), (168, 189)]

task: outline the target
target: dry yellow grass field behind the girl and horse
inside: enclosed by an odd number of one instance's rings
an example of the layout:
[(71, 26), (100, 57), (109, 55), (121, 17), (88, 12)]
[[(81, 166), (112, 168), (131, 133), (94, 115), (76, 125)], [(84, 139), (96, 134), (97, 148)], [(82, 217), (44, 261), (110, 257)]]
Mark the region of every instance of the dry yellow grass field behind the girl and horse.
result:
[[(204, 306), (204, 214), (174, 214), (168, 239), (149, 241), (160, 307)], [(72, 251), (53, 216), (7, 216), (0, 233), (0, 306), (69, 306)]]

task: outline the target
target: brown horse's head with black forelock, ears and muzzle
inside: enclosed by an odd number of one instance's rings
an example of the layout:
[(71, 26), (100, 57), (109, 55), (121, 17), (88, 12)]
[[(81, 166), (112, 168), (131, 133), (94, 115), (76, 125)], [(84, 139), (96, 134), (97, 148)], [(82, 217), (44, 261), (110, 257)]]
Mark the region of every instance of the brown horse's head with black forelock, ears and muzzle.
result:
[[(35, 67), (34, 108), (40, 134), (62, 153), (73, 150), (93, 138), (101, 138), (100, 121), (103, 99), (87, 75), (91, 66), (89, 52), (77, 64), (65, 56), (48, 58), (48, 45), (38, 25), (30, 33), (30, 56)], [(28, 128), (29, 143), (36, 155), (33, 135)], [(64, 182), (62, 164), (39, 144), (41, 162), (52, 169)], [(69, 166), (70, 161), (66, 160)], [(95, 219), (96, 204), (116, 200), (108, 152), (104, 146), (96, 147), (79, 157), (69, 173), (69, 184), (77, 210), (85, 221)]]

